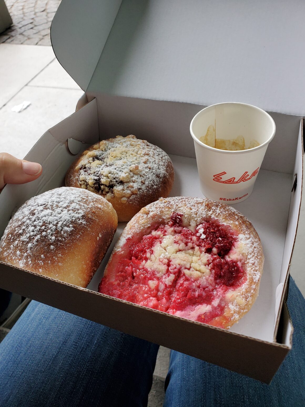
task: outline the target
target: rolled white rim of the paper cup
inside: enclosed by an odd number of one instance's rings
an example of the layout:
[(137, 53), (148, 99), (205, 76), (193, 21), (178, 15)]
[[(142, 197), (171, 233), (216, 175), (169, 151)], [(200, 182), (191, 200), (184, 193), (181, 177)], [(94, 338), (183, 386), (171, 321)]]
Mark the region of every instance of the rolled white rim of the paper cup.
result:
[[(193, 133), (193, 130), (192, 130), (193, 123), (194, 123), (194, 120), (196, 120), (196, 118), (197, 118), (204, 110), (210, 109), (211, 107), (219, 106), (219, 105), (242, 105), (242, 106), (253, 107), (253, 108), (256, 109), (256, 110), (259, 110), (259, 111), (260, 111), (261, 113), (263, 113), (265, 116), (268, 116), (268, 118), (270, 119), (270, 121), (271, 121), (271, 123), (272, 123), (273, 129), (272, 129), (272, 134), (271, 134), (271, 136), (268, 138), (268, 140), (266, 140), (264, 143), (260, 144), (259, 146), (253, 147), (252, 149), (246, 149), (246, 150), (236, 150), (236, 151), (232, 151), (232, 150), (221, 150), (221, 149), (216, 149), (215, 147), (210, 147), (210, 146), (208, 146), (207, 144), (205, 144), (205, 143), (203, 143), (202, 141), (200, 141), (200, 140), (195, 136), (195, 134)], [(241, 102), (222, 102), (222, 103), (215, 103), (214, 105), (209, 105), (209, 106), (205, 107), (204, 109), (201, 109), (200, 112), (198, 112), (198, 113), (192, 118), (192, 121), (191, 121), (191, 124), (190, 124), (190, 133), (191, 133), (191, 136), (192, 136), (192, 138), (194, 139), (194, 141), (196, 141), (200, 146), (205, 147), (205, 148), (208, 149), (208, 150), (211, 150), (211, 151), (218, 151), (218, 152), (221, 152), (221, 153), (224, 153), (224, 154), (245, 154), (245, 153), (248, 153), (248, 152), (250, 152), (250, 151), (252, 152), (252, 151), (260, 150), (260, 149), (264, 148), (264, 147), (266, 146), (266, 144), (268, 145), (268, 144), (270, 143), (270, 141), (272, 140), (272, 138), (275, 136), (275, 130), (276, 130), (275, 121), (272, 119), (272, 117), (270, 116), (270, 114), (268, 114), (267, 112), (265, 112), (265, 110), (260, 109), (260, 108), (257, 107), (257, 106), (249, 105), (248, 103), (241, 103)]]

